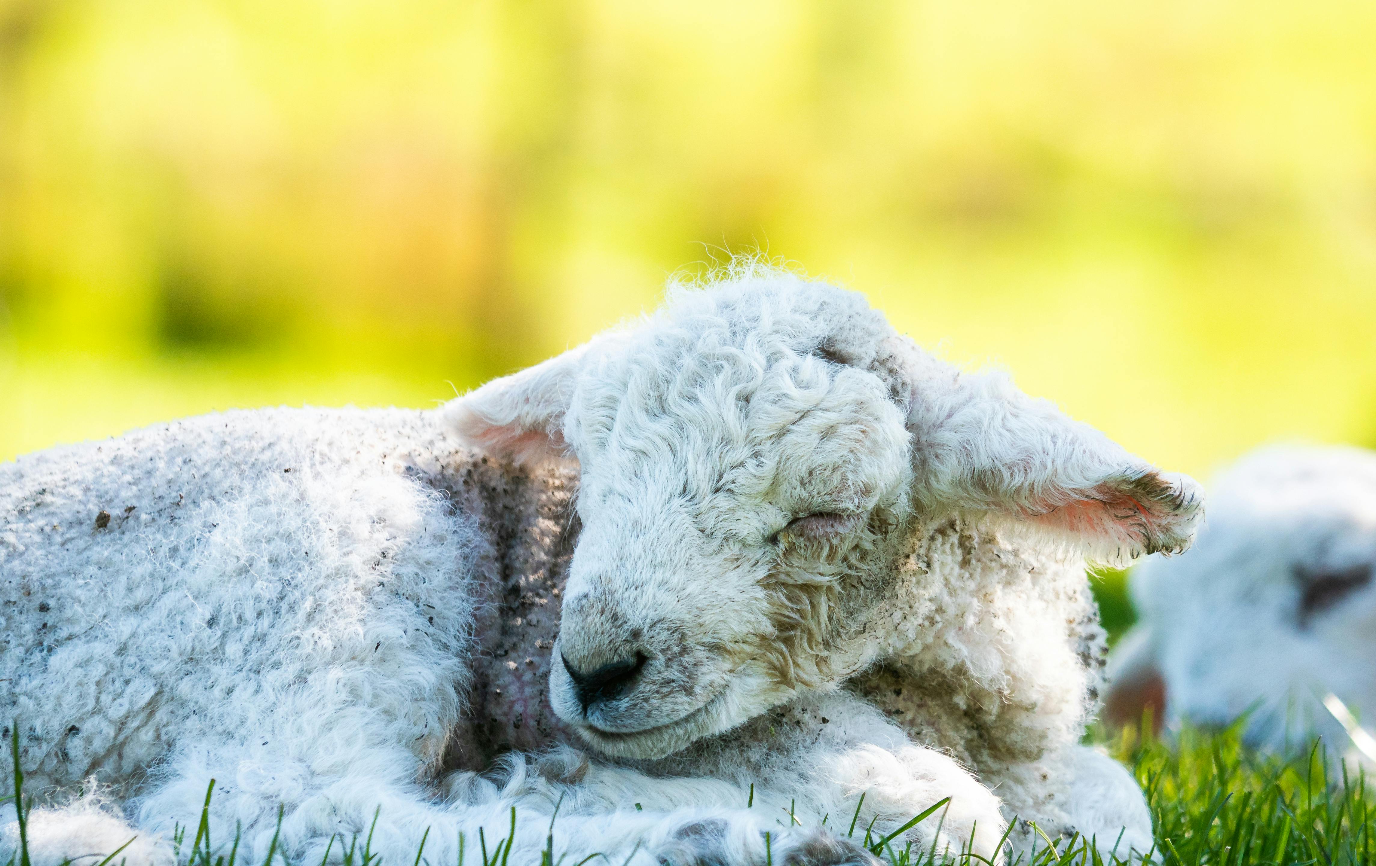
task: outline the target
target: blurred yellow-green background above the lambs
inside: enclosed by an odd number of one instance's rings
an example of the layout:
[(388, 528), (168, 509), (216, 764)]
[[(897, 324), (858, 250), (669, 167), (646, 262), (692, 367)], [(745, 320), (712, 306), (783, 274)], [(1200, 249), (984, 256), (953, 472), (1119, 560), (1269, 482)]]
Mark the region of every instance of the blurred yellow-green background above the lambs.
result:
[(1369, 0), (0, 0), (0, 459), (762, 250), (1207, 477), (1376, 444)]

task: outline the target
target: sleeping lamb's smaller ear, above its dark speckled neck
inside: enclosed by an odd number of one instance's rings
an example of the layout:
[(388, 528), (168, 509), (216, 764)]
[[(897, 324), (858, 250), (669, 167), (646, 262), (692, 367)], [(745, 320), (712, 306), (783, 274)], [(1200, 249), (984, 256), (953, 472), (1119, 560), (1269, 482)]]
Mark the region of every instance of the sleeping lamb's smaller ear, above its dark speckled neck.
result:
[(588, 346), (493, 379), (444, 408), (449, 428), (466, 444), (515, 463), (568, 458), (564, 412)]

